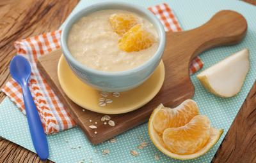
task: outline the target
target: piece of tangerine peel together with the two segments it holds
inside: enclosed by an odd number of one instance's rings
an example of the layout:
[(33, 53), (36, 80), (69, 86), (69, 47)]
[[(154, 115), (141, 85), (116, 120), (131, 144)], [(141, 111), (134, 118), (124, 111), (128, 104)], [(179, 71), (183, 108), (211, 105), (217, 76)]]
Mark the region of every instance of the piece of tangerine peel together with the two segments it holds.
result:
[(164, 154), (180, 160), (204, 155), (222, 133), (223, 129), (211, 127), (209, 118), (199, 115), (198, 106), (191, 99), (176, 108), (161, 104), (148, 122), (148, 134), (154, 145)]

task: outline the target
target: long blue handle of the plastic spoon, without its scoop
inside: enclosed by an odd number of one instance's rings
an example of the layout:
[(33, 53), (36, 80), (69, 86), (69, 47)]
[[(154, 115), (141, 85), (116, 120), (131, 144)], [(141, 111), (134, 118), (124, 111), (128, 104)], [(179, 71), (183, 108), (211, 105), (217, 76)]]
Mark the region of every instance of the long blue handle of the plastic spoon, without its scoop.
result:
[(22, 92), (34, 148), (40, 159), (45, 160), (49, 157), (48, 143), (28, 83), (22, 85)]

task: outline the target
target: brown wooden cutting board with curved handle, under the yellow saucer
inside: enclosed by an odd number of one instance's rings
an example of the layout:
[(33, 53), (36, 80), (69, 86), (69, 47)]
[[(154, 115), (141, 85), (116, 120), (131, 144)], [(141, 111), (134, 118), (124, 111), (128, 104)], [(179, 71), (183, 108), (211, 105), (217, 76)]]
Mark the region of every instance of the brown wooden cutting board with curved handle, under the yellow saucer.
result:
[[(160, 103), (174, 107), (194, 95), (194, 87), (189, 77), (189, 63), (199, 53), (209, 48), (221, 45), (239, 43), (246, 34), (247, 23), (242, 15), (235, 11), (220, 11), (206, 24), (182, 32), (166, 33), (166, 48), (164, 50), (165, 79), (159, 93), (152, 101), (138, 110), (120, 115), (111, 115), (115, 127), (100, 122), (100, 113), (85, 110), (73, 103), (60, 87), (57, 76), (58, 60), (61, 50), (44, 55), (38, 60), (38, 69), (44, 74), (56, 95), (65, 104), (77, 125), (83, 129), (88, 139), (93, 143), (101, 143), (113, 138), (136, 125), (146, 122), (150, 114)], [(97, 134), (88, 126), (98, 122)], [(100, 123), (99, 123), (100, 122)]]

